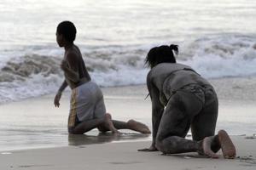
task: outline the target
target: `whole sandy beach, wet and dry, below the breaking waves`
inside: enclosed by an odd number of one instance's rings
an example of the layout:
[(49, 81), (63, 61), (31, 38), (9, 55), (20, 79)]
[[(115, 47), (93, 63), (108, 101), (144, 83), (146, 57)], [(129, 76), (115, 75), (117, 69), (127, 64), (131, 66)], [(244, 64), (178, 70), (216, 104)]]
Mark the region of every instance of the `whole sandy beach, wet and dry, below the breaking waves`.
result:
[[(210, 80), (219, 98), (216, 130), (224, 128), (232, 135), (235, 160), (206, 159), (195, 153), (162, 156), (160, 152), (137, 152), (148, 147), (151, 135), (129, 130), (122, 130), (125, 134), (120, 136), (96, 129), (85, 135), (68, 135), (67, 91), (60, 108), (53, 105), (54, 94), (0, 105), (0, 169), (255, 169), (255, 80)], [(102, 91), (113, 119), (134, 118), (151, 128), (151, 103), (144, 99), (145, 85)]]

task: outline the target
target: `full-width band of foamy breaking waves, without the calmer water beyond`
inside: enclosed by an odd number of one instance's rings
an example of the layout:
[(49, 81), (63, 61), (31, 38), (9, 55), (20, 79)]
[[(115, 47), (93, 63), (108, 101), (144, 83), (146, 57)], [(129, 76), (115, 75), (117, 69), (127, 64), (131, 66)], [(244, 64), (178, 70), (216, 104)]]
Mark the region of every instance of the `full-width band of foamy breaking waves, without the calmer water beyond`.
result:
[[(255, 40), (241, 35), (218, 35), (180, 42), (177, 62), (191, 65), (207, 78), (255, 76)], [(154, 45), (81, 46), (81, 50), (93, 81), (102, 87), (125, 86), (146, 82), (148, 68), (144, 58)], [(7, 53), (9, 58), (2, 57), (0, 65), (0, 103), (53, 93), (61, 85), (62, 49), (37, 46), (24, 48), (22, 53), (19, 50), (16, 56), (13, 51)]]

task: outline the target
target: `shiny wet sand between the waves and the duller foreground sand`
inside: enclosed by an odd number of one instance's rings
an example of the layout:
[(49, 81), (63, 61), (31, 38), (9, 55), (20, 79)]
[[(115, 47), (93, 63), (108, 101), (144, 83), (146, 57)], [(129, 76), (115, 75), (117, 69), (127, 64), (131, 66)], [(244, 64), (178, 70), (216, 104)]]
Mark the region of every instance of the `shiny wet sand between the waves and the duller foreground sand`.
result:
[[(219, 98), (219, 114), (216, 132), (225, 129), (230, 135), (252, 136), (256, 133), (256, 77), (212, 79)], [(135, 119), (151, 129), (151, 101), (146, 85), (102, 88), (107, 111), (114, 120)], [(62, 95), (60, 108), (53, 105), (54, 94), (23, 99), (0, 105), (0, 150), (19, 150), (20, 148), (47, 148), (67, 146), (67, 116), (69, 95)], [(150, 140), (138, 133), (127, 133), (119, 140)], [(98, 135), (97, 130), (86, 133), (91, 143)], [(190, 135), (190, 132), (189, 132)], [(93, 136), (92, 139), (90, 136)], [(189, 138), (189, 137), (188, 137)], [(114, 141), (118, 139), (105, 139)]]

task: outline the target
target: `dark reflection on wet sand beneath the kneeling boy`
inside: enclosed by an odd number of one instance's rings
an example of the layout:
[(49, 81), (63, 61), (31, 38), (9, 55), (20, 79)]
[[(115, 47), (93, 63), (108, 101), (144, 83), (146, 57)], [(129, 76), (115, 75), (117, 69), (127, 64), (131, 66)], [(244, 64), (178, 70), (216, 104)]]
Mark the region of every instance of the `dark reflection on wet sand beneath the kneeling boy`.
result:
[(103, 144), (108, 142), (127, 142), (131, 140), (148, 140), (150, 134), (142, 133), (98, 133), (96, 135), (69, 134), (68, 145), (79, 146), (85, 144)]

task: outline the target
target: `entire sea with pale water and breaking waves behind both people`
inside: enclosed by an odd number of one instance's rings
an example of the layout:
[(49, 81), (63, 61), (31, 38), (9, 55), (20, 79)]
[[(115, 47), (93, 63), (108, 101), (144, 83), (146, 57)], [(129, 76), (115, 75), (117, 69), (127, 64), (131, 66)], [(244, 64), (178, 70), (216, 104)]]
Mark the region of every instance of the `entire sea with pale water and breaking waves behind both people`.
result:
[(55, 43), (55, 29), (61, 20), (74, 22), (75, 42), (92, 79), (103, 87), (145, 83), (144, 58), (160, 42), (177, 42), (177, 61), (204, 77), (255, 75), (255, 1), (77, 0), (58, 5), (60, 10), (49, 0), (1, 1), (0, 103), (60, 86), (63, 49)]

